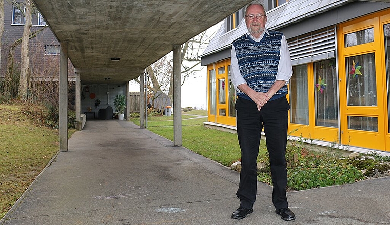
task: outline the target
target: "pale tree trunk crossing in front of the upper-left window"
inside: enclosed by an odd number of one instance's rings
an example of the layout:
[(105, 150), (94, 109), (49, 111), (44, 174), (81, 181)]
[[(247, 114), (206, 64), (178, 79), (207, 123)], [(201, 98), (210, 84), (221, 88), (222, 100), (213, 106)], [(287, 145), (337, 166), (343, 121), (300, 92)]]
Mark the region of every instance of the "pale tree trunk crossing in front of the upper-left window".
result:
[(21, 47), (21, 75), (19, 78), (19, 98), (27, 99), (27, 77), (29, 73), (28, 43), (31, 28), (32, 0), (26, 0), (25, 25)]

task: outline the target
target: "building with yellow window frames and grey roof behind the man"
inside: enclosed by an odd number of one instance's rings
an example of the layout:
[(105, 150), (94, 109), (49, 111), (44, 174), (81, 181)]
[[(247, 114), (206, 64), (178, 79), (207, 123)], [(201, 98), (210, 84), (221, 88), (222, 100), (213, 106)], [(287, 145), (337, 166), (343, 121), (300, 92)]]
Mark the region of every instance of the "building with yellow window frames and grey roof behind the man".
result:
[[(207, 126), (236, 126), (230, 50), (247, 32), (243, 14), (225, 19), (201, 56), (208, 71)], [(390, 151), (390, 3), (290, 0), (267, 11), (266, 28), (284, 33), (293, 62), (291, 138)]]

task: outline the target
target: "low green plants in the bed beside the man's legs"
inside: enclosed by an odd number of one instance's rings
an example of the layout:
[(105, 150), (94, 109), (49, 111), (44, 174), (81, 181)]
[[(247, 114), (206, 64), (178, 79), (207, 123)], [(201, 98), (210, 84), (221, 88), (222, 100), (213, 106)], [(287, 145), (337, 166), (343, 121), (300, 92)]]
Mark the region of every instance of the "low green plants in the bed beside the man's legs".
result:
[[(304, 144), (300, 140), (291, 141), (286, 148), (287, 188), (304, 190), (341, 185), (365, 179), (367, 176), (372, 176), (375, 171), (377, 173), (380, 171), (379, 173), (383, 174), (388, 172), (390, 166), (381, 164), (379, 161), (390, 161), (390, 157), (377, 155), (375, 157), (376, 160), (372, 155), (344, 159), (336, 157), (334, 154), (316, 152), (310, 149), (310, 145)], [(268, 154), (261, 156), (259, 160), (269, 165)], [(370, 169), (369, 166), (372, 168)], [(362, 171), (365, 173), (363, 174)], [(258, 174), (258, 180), (272, 185), (270, 170)]]

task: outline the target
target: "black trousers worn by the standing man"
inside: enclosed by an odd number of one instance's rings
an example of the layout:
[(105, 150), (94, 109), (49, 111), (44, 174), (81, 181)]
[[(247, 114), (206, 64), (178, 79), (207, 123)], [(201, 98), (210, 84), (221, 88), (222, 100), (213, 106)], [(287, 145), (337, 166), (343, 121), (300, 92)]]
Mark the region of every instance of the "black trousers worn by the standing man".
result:
[(290, 106), (286, 97), (268, 101), (260, 111), (253, 101), (239, 97), (235, 107), (242, 166), (237, 191), (240, 206), (252, 208), (256, 200), (256, 159), (259, 154), (261, 131), (264, 128), (274, 184), (272, 203), (276, 209), (288, 207), (286, 145)]

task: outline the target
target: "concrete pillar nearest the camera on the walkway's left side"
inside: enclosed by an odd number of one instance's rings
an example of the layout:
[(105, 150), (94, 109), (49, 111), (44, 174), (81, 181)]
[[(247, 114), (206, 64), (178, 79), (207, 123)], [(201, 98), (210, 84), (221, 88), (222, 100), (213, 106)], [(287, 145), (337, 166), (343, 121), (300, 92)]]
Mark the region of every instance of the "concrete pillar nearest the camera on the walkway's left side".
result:
[(68, 42), (61, 42), (59, 80), (60, 151), (68, 151)]

